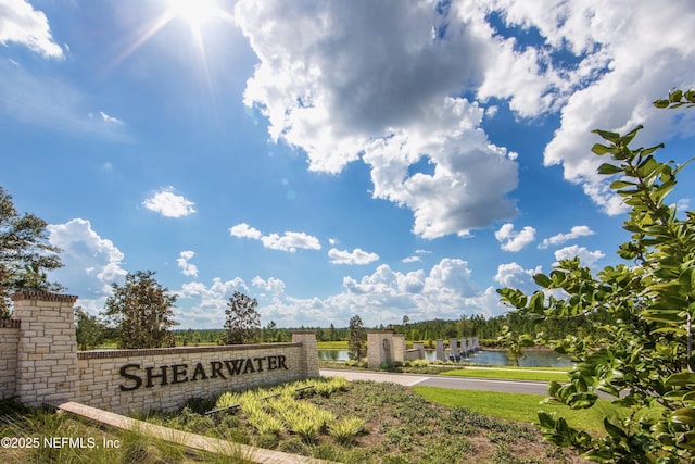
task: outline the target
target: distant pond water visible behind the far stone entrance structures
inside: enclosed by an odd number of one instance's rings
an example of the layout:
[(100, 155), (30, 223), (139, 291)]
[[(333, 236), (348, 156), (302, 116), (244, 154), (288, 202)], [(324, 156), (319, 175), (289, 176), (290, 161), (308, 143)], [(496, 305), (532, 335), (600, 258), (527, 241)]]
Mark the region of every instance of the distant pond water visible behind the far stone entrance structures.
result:
[[(425, 350), (425, 358), (429, 361), (437, 360), (434, 350)], [(318, 359), (321, 361), (348, 361), (348, 350), (318, 350)], [(511, 366), (514, 362), (507, 359), (504, 351), (482, 350), (462, 360), (462, 363), (489, 364), (493, 366)], [(528, 351), (519, 365), (521, 367), (571, 367), (572, 362), (568, 358), (549, 351)]]

